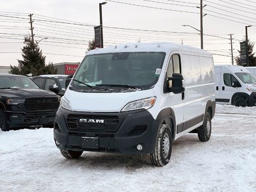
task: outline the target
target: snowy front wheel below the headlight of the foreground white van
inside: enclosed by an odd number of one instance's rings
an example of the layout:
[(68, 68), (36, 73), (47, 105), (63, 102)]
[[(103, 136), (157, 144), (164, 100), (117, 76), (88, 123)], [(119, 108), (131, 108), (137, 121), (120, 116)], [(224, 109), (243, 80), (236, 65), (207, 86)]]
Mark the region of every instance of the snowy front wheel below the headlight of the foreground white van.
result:
[(162, 124), (157, 136), (156, 147), (150, 154), (150, 161), (156, 166), (169, 163), (172, 154), (172, 131), (168, 125)]

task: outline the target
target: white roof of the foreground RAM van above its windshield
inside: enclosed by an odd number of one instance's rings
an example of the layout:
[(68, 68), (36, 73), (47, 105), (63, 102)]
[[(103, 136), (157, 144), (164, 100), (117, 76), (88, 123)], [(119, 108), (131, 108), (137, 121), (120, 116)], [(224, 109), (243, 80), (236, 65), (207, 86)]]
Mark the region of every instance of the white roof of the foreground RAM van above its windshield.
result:
[(157, 51), (157, 52), (172, 52), (172, 51), (189, 51), (197, 52), (200, 54), (207, 54), (211, 56), (210, 52), (191, 47), (188, 45), (173, 44), (170, 42), (156, 42), (156, 43), (127, 43), (120, 45), (110, 45), (103, 49), (93, 49), (87, 54), (100, 54), (108, 52), (145, 52), (145, 51)]

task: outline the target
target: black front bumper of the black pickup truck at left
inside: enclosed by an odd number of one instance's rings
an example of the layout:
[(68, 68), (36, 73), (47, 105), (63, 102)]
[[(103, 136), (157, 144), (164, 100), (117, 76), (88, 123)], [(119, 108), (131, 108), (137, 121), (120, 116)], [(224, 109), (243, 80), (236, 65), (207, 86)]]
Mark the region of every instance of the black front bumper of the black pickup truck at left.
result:
[(56, 112), (26, 113), (24, 111), (5, 111), (9, 127), (29, 127), (33, 125), (54, 124)]

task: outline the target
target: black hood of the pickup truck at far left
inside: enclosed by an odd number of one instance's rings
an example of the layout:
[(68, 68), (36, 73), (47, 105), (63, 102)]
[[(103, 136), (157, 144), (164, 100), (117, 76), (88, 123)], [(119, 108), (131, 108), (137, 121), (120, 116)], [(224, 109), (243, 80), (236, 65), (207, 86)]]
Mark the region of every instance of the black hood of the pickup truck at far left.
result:
[(0, 95), (4, 95), (5, 97), (56, 97), (56, 94), (53, 92), (40, 90), (40, 89), (32, 89), (32, 88), (10, 88), (0, 90)]

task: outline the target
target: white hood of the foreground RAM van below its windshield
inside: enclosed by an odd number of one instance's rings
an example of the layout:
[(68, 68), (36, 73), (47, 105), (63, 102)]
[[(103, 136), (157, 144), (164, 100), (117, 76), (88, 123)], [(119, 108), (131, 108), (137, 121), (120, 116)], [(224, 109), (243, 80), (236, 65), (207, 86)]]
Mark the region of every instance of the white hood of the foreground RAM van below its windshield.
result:
[(153, 96), (155, 94), (152, 89), (120, 93), (81, 93), (67, 90), (64, 95), (70, 102), (72, 111), (84, 112), (120, 112), (129, 102)]

